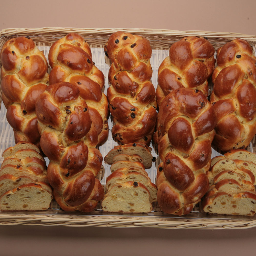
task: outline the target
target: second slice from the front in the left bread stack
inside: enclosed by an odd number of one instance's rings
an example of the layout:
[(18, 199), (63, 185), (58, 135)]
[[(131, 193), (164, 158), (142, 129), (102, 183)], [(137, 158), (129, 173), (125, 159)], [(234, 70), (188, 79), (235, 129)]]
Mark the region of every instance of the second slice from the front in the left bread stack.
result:
[(27, 176), (15, 177), (10, 174), (4, 174), (0, 176), (0, 196), (2, 196), (6, 191), (17, 188), (19, 185), (30, 184), (30, 183), (40, 184), (43, 189), (51, 191), (51, 187), (49, 186), (49, 184), (44, 182), (37, 183), (35, 180), (31, 179), (31, 177), (27, 177)]

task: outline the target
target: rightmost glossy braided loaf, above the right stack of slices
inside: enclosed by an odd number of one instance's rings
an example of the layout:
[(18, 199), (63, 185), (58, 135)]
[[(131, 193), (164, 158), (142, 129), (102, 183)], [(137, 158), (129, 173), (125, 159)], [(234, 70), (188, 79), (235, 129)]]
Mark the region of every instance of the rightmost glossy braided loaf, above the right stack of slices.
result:
[(226, 152), (245, 148), (256, 133), (256, 57), (242, 39), (217, 51), (210, 102), (217, 114), (214, 144)]

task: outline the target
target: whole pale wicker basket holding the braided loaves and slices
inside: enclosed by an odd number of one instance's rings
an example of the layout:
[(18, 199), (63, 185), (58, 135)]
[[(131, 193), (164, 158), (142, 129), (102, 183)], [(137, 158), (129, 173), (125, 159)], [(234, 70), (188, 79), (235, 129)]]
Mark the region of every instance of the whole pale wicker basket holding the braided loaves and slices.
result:
[[(207, 37), (214, 48), (217, 50), (226, 42), (235, 38), (243, 38), (249, 42), (253, 48), (254, 55), (256, 55), (256, 36), (243, 35), (237, 33), (226, 32), (210, 32), (210, 31), (176, 31), (176, 30), (157, 30), (157, 29), (137, 29), (137, 28), (16, 28), (4, 29), (0, 32), (0, 49), (4, 42), (8, 39), (17, 36), (30, 36), (37, 44), (40, 50), (44, 50), (46, 57), (53, 42), (65, 36), (70, 32), (80, 34), (92, 47), (93, 61), (95, 65), (108, 77), (108, 70), (110, 62), (104, 56), (103, 46), (108, 40), (109, 36), (116, 31), (125, 31), (132, 34), (138, 34), (146, 37), (152, 46), (153, 54), (151, 64), (153, 69), (152, 82), (157, 86), (157, 71), (163, 59), (168, 55), (168, 49), (175, 41), (182, 39), (185, 36), (201, 36)], [(1, 78), (0, 78), (1, 81)], [(105, 80), (105, 84), (108, 81)], [(105, 92), (106, 88), (105, 86)], [(15, 145), (13, 130), (6, 121), (6, 110), (1, 108), (1, 94), (0, 89), (0, 156), (3, 151)], [(109, 120), (109, 127), (111, 123)], [(100, 147), (103, 157), (112, 149), (116, 142), (111, 136), (109, 140)], [(250, 144), (249, 151), (256, 152), (255, 138)], [(213, 150), (212, 157), (219, 153)], [(157, 157), (157, 152), (153, 150), (153, 156)], [(3, 158), (0, 158), (0, 164)], [(159, 163), (159, 159), (157, 164)], [(148, 171), (151, 180), (155, 180), (156, 166), (153, 166)], [(103, 164), (99, 175), (101, 183), (104, 185), (106, 177), (110, 174), (108, 165)], [(205, 214), (200, 204), (198, 204), (193, 211), (182, 217), (172, 216), (161, 212), (157, 204), (154, 205), (153, 211), (148, 214), (111, 214), (103, 212), (98, 207), (89, 214), (81, 212), (65, 212), (59, 209), (59, 206), (54, 201), (47, 211), (38, 212), (0, 212), (0, 225), (40, 225), (40, 226), (98, 226), (98, 227), (158, 227), (171, 229), (238, 229), (250, 228), (256, 226), (255, 217), (246, 216), (224, 216), (224, 215), (207, 215)]]

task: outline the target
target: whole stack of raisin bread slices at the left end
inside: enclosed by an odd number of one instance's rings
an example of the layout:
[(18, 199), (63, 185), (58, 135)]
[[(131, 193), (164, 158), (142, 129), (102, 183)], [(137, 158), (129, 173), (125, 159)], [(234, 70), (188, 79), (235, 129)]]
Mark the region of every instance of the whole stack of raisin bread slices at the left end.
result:
[(3, 152), (0, 169), (0, 210), (46, 210), (52, 189), (48, 184), (46, 163), (39, 148), (19, 142)]

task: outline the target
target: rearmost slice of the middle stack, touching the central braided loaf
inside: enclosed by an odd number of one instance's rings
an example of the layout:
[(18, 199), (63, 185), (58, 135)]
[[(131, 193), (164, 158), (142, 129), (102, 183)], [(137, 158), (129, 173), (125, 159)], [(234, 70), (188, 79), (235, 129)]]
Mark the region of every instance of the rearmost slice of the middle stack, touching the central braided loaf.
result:
[[(129, 143), (121, 146), (115, 146), (109, 153), (104, 157), (104, 161), (107, 164), (114, 163), (114, 157), (120, 154), (124, 155), (139, 155), (142, 160), (145, 168), (150, 168), (152, 166), (153, 156), (151, 154), (152, 148), (148, 147), (146, 144), (143, 143)], [(118, 159), (115, 158), (116, 161), (126, 160), (127, 159)], [(129, 159), (128, 159), (129, 160)], [(138, 161), (136, 159), (136, 161)], [(141, 161), (140, 161), (141, 162)]]

